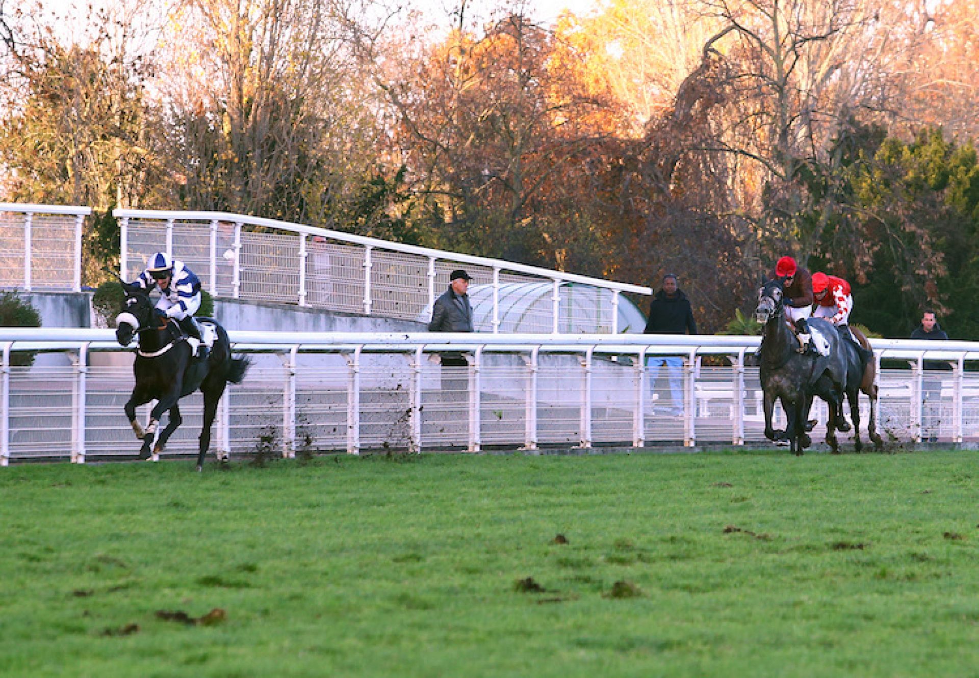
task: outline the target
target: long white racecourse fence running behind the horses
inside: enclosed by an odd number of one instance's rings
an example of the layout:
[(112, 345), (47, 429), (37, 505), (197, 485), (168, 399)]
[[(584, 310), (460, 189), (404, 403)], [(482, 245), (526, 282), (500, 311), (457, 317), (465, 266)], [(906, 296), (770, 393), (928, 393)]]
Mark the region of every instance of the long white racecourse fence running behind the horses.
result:
[[(218, 412), (215, 447), (232, 453), (269, 445), (292, 456), (303, 449), (357, 454), (765, 441), (758, 370), (744, 364), (757, 338), (263, 332), (231, 338), (237, 352), (254, 360), (244, 383), (229, 386)], [(979, 360), (979, 343), (943, 342), (941, 351), (927, 341), (874, 344), (878, 360), (910, 363), (879, 377), (885, 438), (979, 441), (979, 373), (965, 370)], [(122, 412), (132, 388), (132, 352), (119, 349), (112, 331), (0, 328), (0, 347), (0, 464), (134, 458), (139, 444)], [(47, 357), (34, 367), (12, 366), (12, 358), (29, 350)], [(467, 354), (469, 367), (441, 367), (437, 356), (447, 350)], [(666, 368), (650, 383), (644, 365), (653, 355), (682, 358), (679, 402)], [(948, 361), (952, 369), (925, 371), (925, 359)], [(201, 407), (199, 394), (181, 401), (184, 424), (164, 456), (196, 451)], [(862, 409), (865, 429), (863, 396)], [(140, 412), (145, 419), (147, 408)], [(824, 410), (819, 418), (825, 421)], [(814, 437), (823, 434), (820, 425)]]

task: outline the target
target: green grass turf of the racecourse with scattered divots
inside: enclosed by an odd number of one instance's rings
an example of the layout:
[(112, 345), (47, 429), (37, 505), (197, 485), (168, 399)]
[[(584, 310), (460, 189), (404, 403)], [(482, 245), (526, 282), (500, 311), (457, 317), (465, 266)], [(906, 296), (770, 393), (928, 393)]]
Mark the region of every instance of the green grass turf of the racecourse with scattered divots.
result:
[(0, 674), (975, 675), (976, 473), (970, 452), (11, 467)]

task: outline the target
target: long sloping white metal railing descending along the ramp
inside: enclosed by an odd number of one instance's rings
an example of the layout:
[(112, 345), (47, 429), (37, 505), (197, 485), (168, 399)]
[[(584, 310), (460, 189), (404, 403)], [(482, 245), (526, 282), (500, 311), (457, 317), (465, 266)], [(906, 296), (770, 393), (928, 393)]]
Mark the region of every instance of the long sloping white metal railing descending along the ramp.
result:
[[(478, 321), (478, 332), (501, 331), (506, 310), (501, 290), (545, 283), (549, 294), (537, 294), (535, 303), (520, 309), (522, 327), (618, 334), (620, 294), (653, 293), (648, 287), (241, 214), (113, 213), (119, 220), (124, 279), (134, 279), (146, 260), (162, 250), (186, 262), (217, 296), (427, 322), (450, 271), (465, 267), (474, 287), (491, 290), (492, 312)], [(594, 301), (586, 309), (572, 303), (568, 283), (593, 289)]]

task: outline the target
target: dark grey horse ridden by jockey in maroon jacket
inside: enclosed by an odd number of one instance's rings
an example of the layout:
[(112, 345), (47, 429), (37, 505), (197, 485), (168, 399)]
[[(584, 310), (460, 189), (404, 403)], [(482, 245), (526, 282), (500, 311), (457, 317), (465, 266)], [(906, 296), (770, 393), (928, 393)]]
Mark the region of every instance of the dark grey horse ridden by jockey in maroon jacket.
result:
[[(829, 354), (799, 353), (799, 339), (785, 317), (783, 294), (782, 281), (765, 282), (758, 293), (755, 309), (756, 320), (764, 325), (759, 374), (764, 393), (765, 436), (769, 440), (787, 438), (792, 453), (802, 454), (812, 444), (806, 425), (815, 394), (829, 404), (826, 442), (835, 452), (837, 416), (847, 374), (839, 345), (842, 339), (825, 320), (810, 319), (807, 321), (810, 329), (815, 329), (828, 342)], [(784, 431), (771, 427), (775, 400), (779, 400), (785, 410), (787, 425)]]

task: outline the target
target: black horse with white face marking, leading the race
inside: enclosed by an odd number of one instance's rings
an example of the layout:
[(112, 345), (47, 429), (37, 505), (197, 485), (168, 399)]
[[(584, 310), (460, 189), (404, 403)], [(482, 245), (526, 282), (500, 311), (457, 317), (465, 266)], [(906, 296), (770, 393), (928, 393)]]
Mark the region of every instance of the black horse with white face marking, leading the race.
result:
[[(152, 458), (157, 461), (160, 458), (163, 445), (182, 421), (177, 401), (200, 388), (204, 393), (204, 429), (198, 448), (197, 470), (201, 471), (210, 447), (210, 428), (217, 413), (217, 402), (226, 384), (241, 384), (250, 360), (232, 357), (228, 334), (212, 318), (199, 319), (213, 326), (217, 334), (210, 356), (194, 357), (193, 349), (180, 332), (180, 327), (154, 306), (149, 293), (135, 285), (123, 283), (122, 287), (126, 306), (125, 311), (117, 317), (116, 339), (125, 346), (134, 335), (139, 335), (139, 349), (133, 365), (136, 385), (125, 404), (125, 413), (136, 437), (143, 440), (140, 459)], [(143, 429), (136, 421), (136, 408), (153, 399), (158, 402), (150, 413), (149, 424)], [(169, 418), (166, 428), (160, 431), (158, 437), (160, 418), (167, 411)], [(227, 457), (220, 453), (218, 459), (227, 461)]]

